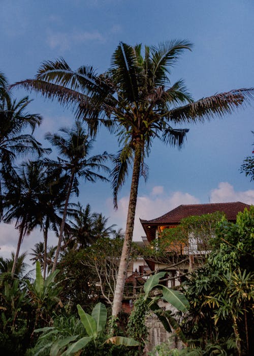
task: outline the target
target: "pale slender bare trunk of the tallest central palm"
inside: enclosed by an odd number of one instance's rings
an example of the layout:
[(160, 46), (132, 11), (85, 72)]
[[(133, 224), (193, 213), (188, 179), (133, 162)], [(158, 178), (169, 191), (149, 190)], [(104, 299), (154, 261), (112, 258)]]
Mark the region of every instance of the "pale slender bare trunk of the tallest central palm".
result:
[(124, 284), (127, 277), (127, 268), (132, 246), (134, 219), (138, 197), (139, 175), (142, 159), (142, 142), (141, 139), (136, 139), (135, 142), (135, 157), (133, 163), (132, 185), (130, 192), (130, 200), (128, 206), (128, 215), (126, 221), (126, 230), (122, 247), (122, 254), (118, 270), (117, 282), (115, 287), (115, 294), (113, 300), (112, 316), (116, 317), (122, 309), (122, 296), (124, 291)]

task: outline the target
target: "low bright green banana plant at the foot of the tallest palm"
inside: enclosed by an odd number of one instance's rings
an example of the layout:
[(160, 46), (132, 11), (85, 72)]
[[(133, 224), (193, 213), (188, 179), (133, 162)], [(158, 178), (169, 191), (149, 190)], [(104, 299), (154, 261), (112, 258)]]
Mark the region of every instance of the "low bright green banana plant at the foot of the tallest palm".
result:
[[(74, 356), (79, 355), (80, 351), (89, 343), (93, 342), (95, 349), (101, 343), (101, 339), (99, 337), (103, 334), (106, 327), (107, 322), (107, 309), (104, 304), (98, 303), (92, 310), (91, 315), (84, 312), (82, 307), (77, 305), (78, 314), (82, 324), (84, 325), (87, 336), (81, 337), (79, 335), (72, 335), (66, 338), (59, 339), (53, 343), (51, 343), (50, 348), (50, 356)], [(47, 330), (46, 330), (47, 329)], [(54, 332), (54, 328), (43, 328), (38, 331), (49, 331)], [(77, 340), (78, 339), (78, 340)], [(112, 343), (116, 346), (124, 345), (126, 347), (138, 346), (138, 341), (126, 338), (122, 336), (113, 336), (111, 338), (107, 338), (104, 341), (104, 344)], [(38, 352), (38, 354), (40, 351)]]

